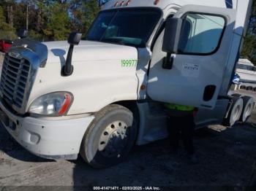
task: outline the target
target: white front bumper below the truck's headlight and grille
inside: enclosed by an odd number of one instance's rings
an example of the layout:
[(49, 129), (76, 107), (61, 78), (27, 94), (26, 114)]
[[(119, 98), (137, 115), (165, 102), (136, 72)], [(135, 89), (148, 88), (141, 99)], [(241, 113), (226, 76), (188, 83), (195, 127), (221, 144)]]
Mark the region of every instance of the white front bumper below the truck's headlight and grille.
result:
[(49, 159), (75, 160), (86, 129), (94, 120), (88, 117), (18, 117), (0, 102), (4, 128), (29, 152)]

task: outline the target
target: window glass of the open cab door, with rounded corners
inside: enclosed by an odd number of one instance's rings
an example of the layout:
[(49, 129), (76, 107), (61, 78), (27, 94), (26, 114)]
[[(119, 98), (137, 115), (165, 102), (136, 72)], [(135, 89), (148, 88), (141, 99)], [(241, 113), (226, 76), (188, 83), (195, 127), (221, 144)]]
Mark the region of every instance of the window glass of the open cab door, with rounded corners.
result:
[(179, 52), (203, 55), (217, 51), (225, 28), (224, 17), (189, 13), (185, 19)]

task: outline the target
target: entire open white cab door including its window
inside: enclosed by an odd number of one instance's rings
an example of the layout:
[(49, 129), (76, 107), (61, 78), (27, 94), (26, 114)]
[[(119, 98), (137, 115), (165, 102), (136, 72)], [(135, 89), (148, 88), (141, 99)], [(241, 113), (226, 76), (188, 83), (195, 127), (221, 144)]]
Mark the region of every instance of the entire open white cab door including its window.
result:
[[(236, 9), (187, 5), (169, 19), (174, 21), (166, 21), (154, 45), (148, 96), (213, 109), (232, 46)], [(167, 27), (175, 30), (166, 34)], [(176, 51), (167, 52), (166, 44)]]

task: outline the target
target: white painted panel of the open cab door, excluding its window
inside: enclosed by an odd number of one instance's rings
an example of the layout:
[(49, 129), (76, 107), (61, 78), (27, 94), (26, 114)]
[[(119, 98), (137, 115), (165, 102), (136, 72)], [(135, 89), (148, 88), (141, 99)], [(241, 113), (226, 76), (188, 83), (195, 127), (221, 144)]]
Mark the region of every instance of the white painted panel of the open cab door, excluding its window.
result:
[[(217, 52), (211, 55), (189, 55), (186, 53), (173, 55), (173, 68), (162, 69), (162, 61), (166, 57), (166, 52), (162, 52), (163, 31), (157, 39), (152, 55), (148, 77), (148, 95), (155, 101), (214, 109), (225, 73), (225, 62), (232, 44), (236, 10), (186, 5), (181, 7), (174, 17), (183, 17), (186, 12), (223, 15), (227, 20), (227, 27), (222, 37), (221, 46)], [(192, 68), (197, 65), (198, 70), (184, 69), (183, 63), (189, 63), (188, 66), (192, 66)], [(157, 81), (155, 81), (155, 77), (157, 77)], [(216, 91), (210, 101), (205, 101), (203, 95), (208, 85), (216, 86)]]

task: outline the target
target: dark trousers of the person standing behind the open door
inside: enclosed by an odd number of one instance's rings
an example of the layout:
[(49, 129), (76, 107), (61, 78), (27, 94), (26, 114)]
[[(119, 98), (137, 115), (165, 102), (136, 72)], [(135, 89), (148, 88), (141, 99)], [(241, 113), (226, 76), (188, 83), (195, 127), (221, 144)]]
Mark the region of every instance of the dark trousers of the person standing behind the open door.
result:
[(170, 147), (172, 147), (174, 150), (177, 150), (178, 141), (181, 137), (187, 153), (192, 155), (195, 152), (192, 141), (192, 134), (195, 128), (193, 114), (188, 114), (182, 117), (169, 116), (167, 125)]

